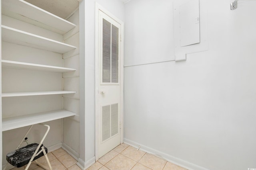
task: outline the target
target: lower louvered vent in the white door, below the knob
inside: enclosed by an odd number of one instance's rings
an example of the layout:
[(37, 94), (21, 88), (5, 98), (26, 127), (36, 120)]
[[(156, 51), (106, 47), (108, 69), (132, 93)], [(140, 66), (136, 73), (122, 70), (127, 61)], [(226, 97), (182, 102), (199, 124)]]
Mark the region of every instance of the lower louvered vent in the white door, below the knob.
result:
[(102, 142), (118, 134), (118, 104), (102, 106)]

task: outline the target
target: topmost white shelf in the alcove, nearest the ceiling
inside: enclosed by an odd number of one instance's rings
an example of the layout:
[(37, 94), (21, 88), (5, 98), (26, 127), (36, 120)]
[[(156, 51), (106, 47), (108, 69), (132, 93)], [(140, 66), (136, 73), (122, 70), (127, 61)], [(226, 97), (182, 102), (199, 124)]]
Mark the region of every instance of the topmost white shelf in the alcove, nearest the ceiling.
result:
[(55, 16), (24, 0), (2, 0), (2, 14), (62, 35), (76, 27), (74, 23)]

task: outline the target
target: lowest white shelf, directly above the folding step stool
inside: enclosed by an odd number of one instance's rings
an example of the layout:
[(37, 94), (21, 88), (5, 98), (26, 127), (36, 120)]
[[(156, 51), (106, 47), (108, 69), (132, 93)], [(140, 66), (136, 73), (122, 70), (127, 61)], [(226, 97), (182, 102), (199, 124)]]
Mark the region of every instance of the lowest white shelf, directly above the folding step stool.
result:
[(46, 121), (52, 121), (56, 119), (61, 119), (64, 117), (74, 116), (76, 113), (66, 111), (66, 110), (55, 110), (47, 111), (42, 113), (34, 113), (30, 115), (22, 115), (17, 117), (10, 117), (2, 119), (2, 131), (7, 131), (10, 129), (16, 129), (19, 127), (25, 127), (29, 125), (34, 125), (37, 123), (43, 123)]

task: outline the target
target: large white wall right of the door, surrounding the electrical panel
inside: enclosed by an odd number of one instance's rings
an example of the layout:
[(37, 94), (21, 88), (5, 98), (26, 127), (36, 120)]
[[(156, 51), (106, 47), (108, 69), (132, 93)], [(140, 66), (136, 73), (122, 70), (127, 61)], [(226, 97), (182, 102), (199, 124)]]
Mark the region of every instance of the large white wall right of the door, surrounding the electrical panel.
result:
[[(124, 68), (126, 143), (195, 170), (256, 168), (256, 2), (238, 1), (233, 11), (230, 2), (217, 0), (208, 6), (208, 51), (189, 54), (184, 62)], [(134, 35), (163, 42), (173, 37), (168, 31), (164, 38), (148, 31), (152, 23), (129, 20), (134, 12), (140, 19), (146, 17), (139, 12), (145, 6), (155, 9), (150, 15), (154, 16), (151, 22), (157, 23), (158, 10), (167, 10), (170, 2), (125, 4), (125, 65), (172, 57), (171, 43), (158, 48), (162, 55), (148, 53), (155, 51), (148, 43), (140, 43), (141, 48), (131, 44)], [(172, 21), (167, 16), (166, 24)]]

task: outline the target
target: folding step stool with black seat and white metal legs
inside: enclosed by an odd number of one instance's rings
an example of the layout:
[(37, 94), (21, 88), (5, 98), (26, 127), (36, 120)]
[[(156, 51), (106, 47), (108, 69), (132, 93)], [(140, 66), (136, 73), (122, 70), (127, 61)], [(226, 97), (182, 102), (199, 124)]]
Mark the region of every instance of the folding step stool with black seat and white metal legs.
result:
[[(46, 137), (46, 135), (48, 134), (48, 132), (50, 130), (50, 126), (49, 125), (44, 125), (42, 123), (39, 123), (38, 125), (42, 125), (42, 126), (47, 127), (47, 131), (44, 134), (44, 137), (42, 138), (41, 142), (39, 144), (32, 143), (32, 144), (28, 145), (28, 138), (26, 136), (28, 135), (28, 133), (30, 132), (32, 127), (34, 126), (34, 125), (31, 125), (30, 128), (28, 129), (26, 135), (23, 138), (24, 140), (22, 139), (22, 141), (20, 142), (20, 144), (17, 147), (17, 149), (12, 151), (12, 152), (10, 152), (10, 153), (8, 153), (6, 155), (7, 162), (10, 163), (12, 166), (20, 168), (20, 167), (28, 164), (26, 166), (26, 168), (25, 168), (25, 170), (28, 170), (28, 168), (29, 168), (30, 164), (32, 163), (32, 161), (35, 161), (38, 166), (41, 166), (45, 170), (52, 170), (52, 166), (51, 166), (50, 161), (49, 161), (48, 156), (47, 156), (48, 150), (42, 144), (44, 139), (45, 139), (45, 137)], [(20, 148), (20, 145), (22, 143), (24, 143), (24, 142), (27, 143), (27, 146)], [(36, 160), (36, 159), (40, 158), (41, 156), (45, 156), (49, 168), (47, 168), (46, 166), (40, 164)], [(7, 166), (7, 164), (6, 164), (6, 166)], [(6, 166), (4, 167), (3, 170), (6, 169)]]

